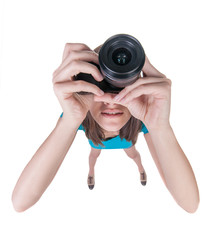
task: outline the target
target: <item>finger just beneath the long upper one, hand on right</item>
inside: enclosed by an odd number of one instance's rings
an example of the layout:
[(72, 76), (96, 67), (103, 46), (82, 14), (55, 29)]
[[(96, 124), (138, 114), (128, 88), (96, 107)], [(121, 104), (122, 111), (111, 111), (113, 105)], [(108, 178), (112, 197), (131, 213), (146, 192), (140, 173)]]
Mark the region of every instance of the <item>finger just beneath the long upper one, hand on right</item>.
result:
[(142, 95), (153, 95), (156, 98), (165, 98), (166, 97), (166, 86), (169, 86), (166, 82), (160, 83), (150, 83), (146, 85), (139, 86), (132, 91), (130, 91), (124, 98), (117, 100), (118, 103), (129, 103), (135, 98), (138, 98)]

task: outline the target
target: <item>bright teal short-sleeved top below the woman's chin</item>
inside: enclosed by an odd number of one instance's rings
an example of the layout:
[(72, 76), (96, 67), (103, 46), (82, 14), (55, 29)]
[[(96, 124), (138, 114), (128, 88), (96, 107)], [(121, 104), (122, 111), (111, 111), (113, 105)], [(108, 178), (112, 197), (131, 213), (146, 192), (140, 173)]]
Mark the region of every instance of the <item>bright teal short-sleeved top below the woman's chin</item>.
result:
[[(62, 116), (63, 116), (63, 113), (61, 114), (60, 117)], [(142, 123), (141, 132), (143, 132), (144, 134), (148, 133), (148, 129), (146, 128), (144, 123), (143, 122), (141, 123)], [(78, 130), (83, 130), (85, 132), (85, 129), (82, 126), (82, 124), (79, 126)], [(132, 141), (129, 142), (125, 138), (121, 139), (119, 135), (113, 138), (109, 138), (106, 141), (102, 141), (102, 143), (104, 144), (104, 147), (102, 147), (100, 144), (96, 146), (90, 139), (88, 139), (88, 141), (91, 147), (96, 149), (124, 149), (124, 148), (130, 148), (133, 145)]]

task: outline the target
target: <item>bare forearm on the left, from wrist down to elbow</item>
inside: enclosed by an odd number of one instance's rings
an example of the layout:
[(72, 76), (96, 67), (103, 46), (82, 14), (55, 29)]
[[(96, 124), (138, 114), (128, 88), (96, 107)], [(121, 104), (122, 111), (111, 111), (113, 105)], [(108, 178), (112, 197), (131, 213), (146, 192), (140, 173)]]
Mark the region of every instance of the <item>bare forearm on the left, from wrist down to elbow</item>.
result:
[(78, 127), (79, 124), (63, 117), (36, 151), (13, 191), (12, 201), (17, 211), (24, 211), (39, 200), (64, 160)]

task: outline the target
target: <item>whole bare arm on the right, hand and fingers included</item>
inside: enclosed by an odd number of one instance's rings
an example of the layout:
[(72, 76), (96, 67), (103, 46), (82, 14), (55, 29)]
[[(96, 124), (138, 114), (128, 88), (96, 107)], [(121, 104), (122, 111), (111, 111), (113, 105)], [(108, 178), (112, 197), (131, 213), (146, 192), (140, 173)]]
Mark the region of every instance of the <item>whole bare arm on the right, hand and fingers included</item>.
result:
[(149, 129), (145, 139), (164, 183), (184, 210), (195, 212), (199, 204), (196, 179), (169, 121), (172, 81), (147, 56), (142, 71), (143, 77), (125, 87), (114, 102), (126, 106)]

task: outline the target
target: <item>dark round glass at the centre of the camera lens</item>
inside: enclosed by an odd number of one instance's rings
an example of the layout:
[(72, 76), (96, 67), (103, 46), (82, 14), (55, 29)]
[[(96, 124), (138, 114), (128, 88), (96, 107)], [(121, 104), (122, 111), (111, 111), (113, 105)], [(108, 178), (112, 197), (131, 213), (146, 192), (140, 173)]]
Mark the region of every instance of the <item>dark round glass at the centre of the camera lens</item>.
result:
[(112, 54), (112, 59), (117, 65), (126, 65), (131, 60), (131, 53), (128, 49), (118, 48)]

